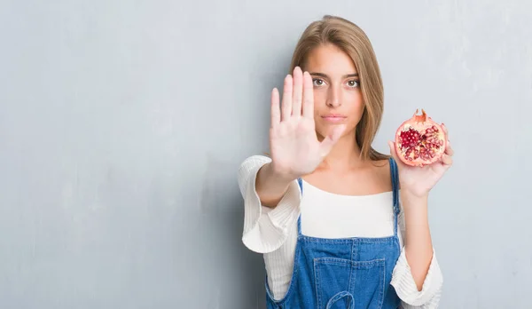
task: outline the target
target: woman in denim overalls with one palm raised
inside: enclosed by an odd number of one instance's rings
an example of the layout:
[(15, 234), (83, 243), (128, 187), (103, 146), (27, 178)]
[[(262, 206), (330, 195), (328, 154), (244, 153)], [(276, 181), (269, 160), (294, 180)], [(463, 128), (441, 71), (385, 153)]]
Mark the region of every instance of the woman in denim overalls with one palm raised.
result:
[(271, 93), (270, 157), (239, 168), (242, 241), (263, 254), (268, 308), (437, 307), (427, 200), (451, 148), (423, 168), (398, 160), (391, 141), (391, 155), (372, 148), (382, 82), (369, 39), (348, 20), (311, 23), (290, 71), (280, 107)]

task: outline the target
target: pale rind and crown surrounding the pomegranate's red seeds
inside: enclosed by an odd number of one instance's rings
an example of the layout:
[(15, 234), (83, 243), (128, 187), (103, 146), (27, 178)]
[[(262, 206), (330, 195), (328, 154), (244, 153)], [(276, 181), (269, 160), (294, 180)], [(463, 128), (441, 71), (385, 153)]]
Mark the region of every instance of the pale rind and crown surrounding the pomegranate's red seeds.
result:
[[(441, 160), (442, 155), (445, 153), (445, 148), (447, 147), (447, 136), (443, 131), (442, 125), (439, 123), (435, 123), (431, 117), (427, 116), (425, 110), (421, 109), (422, 115), (418, 115), (418, 112), (419, 110), (416, 110), (416, 113), (414, 113), (411, 119), (408, 119), (401, 123), (399, 128), (397, 128), (397, 131), (395, 131), (395, 152), (399, 159), (406, 165), (423, 167)], [(407, 147), (402, 146), (403, 140), (401, 139), (401, 133), (403, 131), (409, 131), (411, 128), (413, 130), (419, 131), (421, 135), (426, 134), (426, 129), (432, 129), (433, 131), (435, 129), (435, 132), (432, 133), (433, 137), (439, 142), (441, 141), (442, 145), (439, 148), (434, 149), (434, 156), (432, 158), (414, 159), (414, 155), (413, 153), (411, 153), (411, 160), (409, 160), (405, 156), (405, 151), (407, 150)]]

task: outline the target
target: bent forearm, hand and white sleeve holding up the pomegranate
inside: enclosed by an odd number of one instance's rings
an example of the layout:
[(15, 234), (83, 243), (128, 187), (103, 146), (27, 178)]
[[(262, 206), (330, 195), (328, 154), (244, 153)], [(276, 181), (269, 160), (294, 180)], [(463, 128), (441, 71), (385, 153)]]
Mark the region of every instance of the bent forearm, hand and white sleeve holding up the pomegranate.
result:
[[(442, 125), (445, 134), (447, 128)], [(404, 247), (395, 265), (392, 285), (406, 308), (435, 308), (442, 289), (442, 272), (434, 254), (428, 225), (428, 194), (452, 165), (454, 151), (448, 147), (440, 162), (424, 167), (403, 164), (388, 142), (399, 169), (401, 218)]]

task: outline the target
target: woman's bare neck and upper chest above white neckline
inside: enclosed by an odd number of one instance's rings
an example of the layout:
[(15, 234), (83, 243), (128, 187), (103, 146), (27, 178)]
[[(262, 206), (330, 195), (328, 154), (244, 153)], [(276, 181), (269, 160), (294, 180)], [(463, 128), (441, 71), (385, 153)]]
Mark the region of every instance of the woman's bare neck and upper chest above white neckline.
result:
[(342, 136), (325, 157), (322, 168), (345, 170), (360, 166), (363, 159), (360, 157), (360, 147), (356, 145), (355, 138), (355, 131)]

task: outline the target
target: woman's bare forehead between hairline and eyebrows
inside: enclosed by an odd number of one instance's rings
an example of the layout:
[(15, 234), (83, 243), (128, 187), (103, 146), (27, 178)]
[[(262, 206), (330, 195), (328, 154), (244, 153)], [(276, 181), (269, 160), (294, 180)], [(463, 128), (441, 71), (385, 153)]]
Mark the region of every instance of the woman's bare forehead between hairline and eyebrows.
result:
[(307, 57), (305, 69), (326, 75), (348, 75), (356, 72), (353, 59), (333, 44), (320, 45)]

